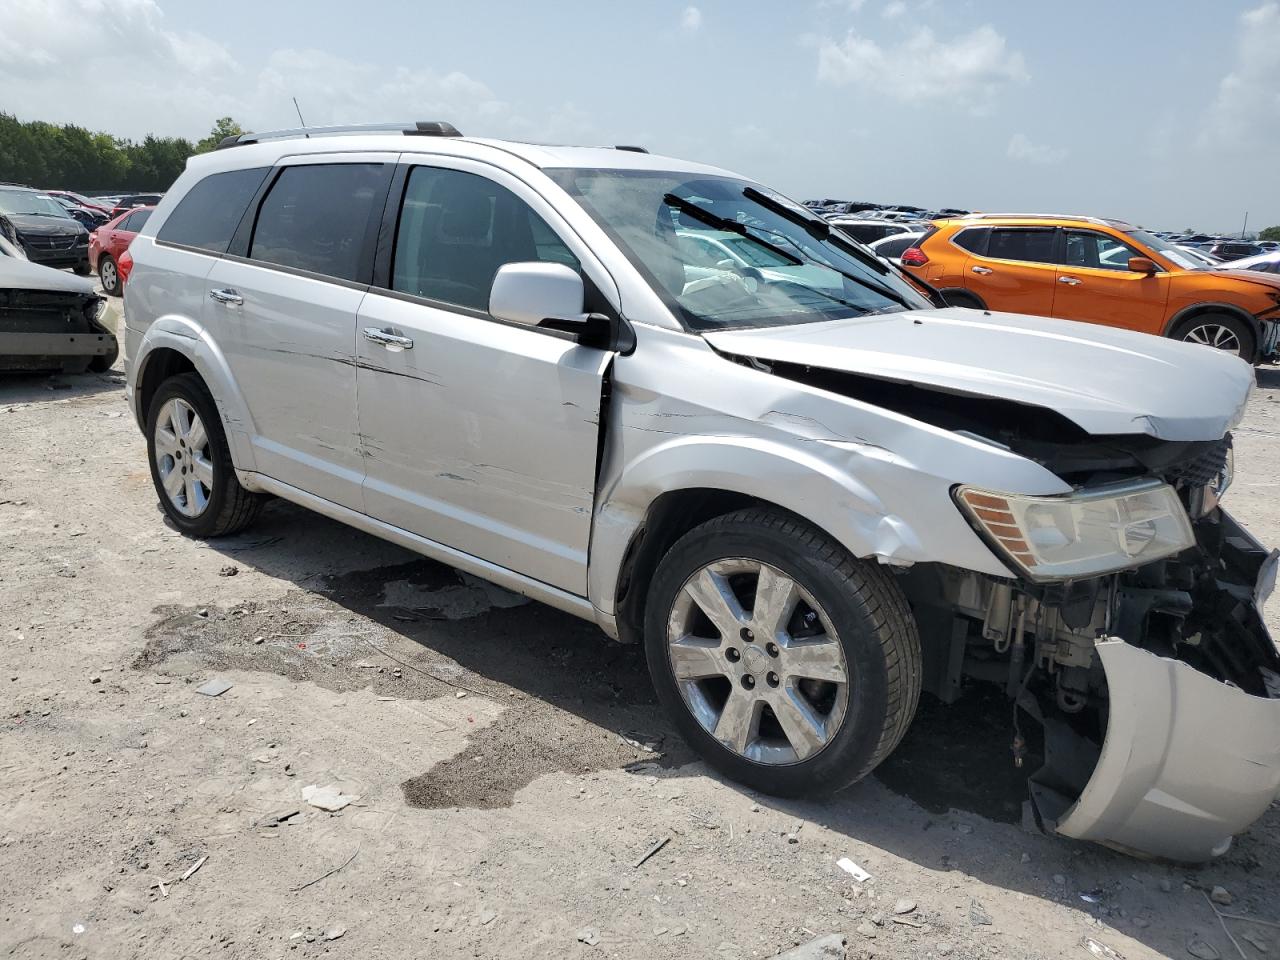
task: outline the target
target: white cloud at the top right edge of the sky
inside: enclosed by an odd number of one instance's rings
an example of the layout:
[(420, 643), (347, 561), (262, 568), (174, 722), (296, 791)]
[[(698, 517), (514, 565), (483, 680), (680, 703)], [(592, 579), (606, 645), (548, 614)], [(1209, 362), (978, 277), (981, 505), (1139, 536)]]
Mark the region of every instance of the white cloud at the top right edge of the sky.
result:
[(1212, 150), (1280, 152), (1280, 3), (1240, 15), (1235, 61), (1201, 129)]

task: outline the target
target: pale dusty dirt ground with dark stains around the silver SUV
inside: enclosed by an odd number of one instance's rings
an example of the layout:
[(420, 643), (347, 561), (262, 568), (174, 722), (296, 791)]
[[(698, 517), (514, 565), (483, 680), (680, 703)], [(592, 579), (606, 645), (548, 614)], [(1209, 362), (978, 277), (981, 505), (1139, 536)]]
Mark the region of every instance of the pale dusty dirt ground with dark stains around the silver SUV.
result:
[[(1260, 380), (1228, 502), (1276, 543)], [(586, 623), (285, 503), (178, 535), (118, 372), (0, 381), (0, 957), (1280, 952), (1206, 897), (1280, 920), (1277, 808), (1196, 869), (1027, 832), (982, 696), (836, 800), (753, 795)]]

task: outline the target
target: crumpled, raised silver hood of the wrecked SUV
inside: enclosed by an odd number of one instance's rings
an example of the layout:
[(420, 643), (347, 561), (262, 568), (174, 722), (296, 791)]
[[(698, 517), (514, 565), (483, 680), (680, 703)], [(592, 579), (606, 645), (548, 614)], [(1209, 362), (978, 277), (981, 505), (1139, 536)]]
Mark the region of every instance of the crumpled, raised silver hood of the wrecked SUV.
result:
[(1046, 407), (1098, 435), (1216, 440), (1253, 385), (1247, 362), (1207, 347), (960, 307), (703, 337), (724, 353)]

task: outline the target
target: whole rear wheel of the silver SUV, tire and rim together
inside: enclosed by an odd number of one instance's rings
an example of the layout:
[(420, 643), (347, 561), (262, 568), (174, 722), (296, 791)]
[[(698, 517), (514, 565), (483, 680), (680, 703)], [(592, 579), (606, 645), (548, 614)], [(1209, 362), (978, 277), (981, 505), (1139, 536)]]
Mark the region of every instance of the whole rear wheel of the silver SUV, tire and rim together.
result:
[(262, 497), (236, 477), (218, 408), (198, 374), (178, 374), (156, 390), (147, 460), (160, 507), (188, 536), (227, 536), (257, 518)]

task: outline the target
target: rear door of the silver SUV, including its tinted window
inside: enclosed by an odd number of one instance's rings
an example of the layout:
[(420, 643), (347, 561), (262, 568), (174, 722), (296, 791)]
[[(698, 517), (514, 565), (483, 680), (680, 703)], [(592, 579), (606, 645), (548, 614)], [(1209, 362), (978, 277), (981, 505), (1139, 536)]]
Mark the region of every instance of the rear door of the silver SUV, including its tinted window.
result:
[(362, 509), (356, 311), (397, 155), (312, 155), (268, 178), (207, 276), (216, 332), (253, 419), (256, 470)]

